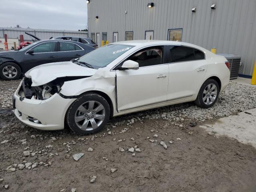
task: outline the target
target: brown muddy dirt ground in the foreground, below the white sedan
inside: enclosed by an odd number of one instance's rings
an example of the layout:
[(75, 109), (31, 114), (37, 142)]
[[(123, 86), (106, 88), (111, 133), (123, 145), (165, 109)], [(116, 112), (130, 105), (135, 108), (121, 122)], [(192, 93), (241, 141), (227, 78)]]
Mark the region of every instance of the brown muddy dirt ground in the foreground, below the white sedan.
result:
[[(0, 141), (9, 140), (0, 145), (0, 178), (4, 179), (1, 185), (9, 184), (8, 191), (58, 192), (77, 188), (78, 192), (253, 192), (256, 189), (256, 149), (227, 137), (210, 136), (198, 126), (188, 126), (189, 122), (179, 127), (168, 120), (141, 120), (129, 128), (108, 125), (111, 132), (116, 132), (114, 135), (102, 131), (87, 137), (69, 130), (49, 132), (28, 128), (12, 112), (1, 114), (0, 122)], [(124, 128), (128, 130), (118, 134)], [(104, 132), (107, 136), (102, 137)], [(152, 139), (154, 134), (158, 135), (157, 142), (152, 143), (147, 137)], [(57, 140), (53, 141), (52, 136)], [(21, 139), (27, 139), (27, 143), (21, 144)], [(120, 139), (126, 140), (118, 142)], [(167, 149), (159, 144), (161, 140), (168, 145)], [(49, 144), (52, 147), (45, 148)], [(126, 149), (135, 145), (142, 152), (132, 156)], [(47, 154), (24, 157), (27, 146), (32, 151), (44, 149), (42, 154)], [(89, 147), (94, 150), (88, 152)], [(120, 152), (119, 147), (125, 151)], [(59, 155), (49, 156), (50, 153)], [(77, 153), (84, 156), (76, 162), (72, 154)], [(52, 165), (14, 172), (5, 170), (23, 160)], [(111, 173), (111, 168), (117, 168), (116, 172)], [(97, 176), (96, 182), (90, 183), (93, 175)]]

